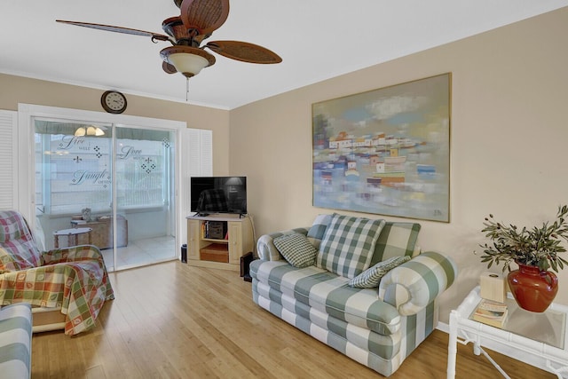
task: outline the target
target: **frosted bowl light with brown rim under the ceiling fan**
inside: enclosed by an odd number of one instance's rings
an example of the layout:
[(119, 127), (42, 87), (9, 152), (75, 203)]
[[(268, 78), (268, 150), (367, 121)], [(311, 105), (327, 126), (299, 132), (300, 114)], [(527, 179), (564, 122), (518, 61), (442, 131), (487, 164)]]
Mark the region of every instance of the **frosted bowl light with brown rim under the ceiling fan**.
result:
[(201, 69), (215, 63), (215, 57), (209, 52), (190, 46), (171, 46), (160, 51), (162, 59), (176, 67), (178, 73), (185, 77), (192, 77), (200, 73)]

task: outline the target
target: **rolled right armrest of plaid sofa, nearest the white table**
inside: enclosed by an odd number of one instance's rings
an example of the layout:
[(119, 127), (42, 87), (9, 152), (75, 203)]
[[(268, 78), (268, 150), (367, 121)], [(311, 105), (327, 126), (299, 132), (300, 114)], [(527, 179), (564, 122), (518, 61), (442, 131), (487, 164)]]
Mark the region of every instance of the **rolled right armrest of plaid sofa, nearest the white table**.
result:
[(457, 272), (453, 259), (427, 251), (388, 272), (379, 284), (378, 295), (402, 316), (410, 316), (449, 288)]

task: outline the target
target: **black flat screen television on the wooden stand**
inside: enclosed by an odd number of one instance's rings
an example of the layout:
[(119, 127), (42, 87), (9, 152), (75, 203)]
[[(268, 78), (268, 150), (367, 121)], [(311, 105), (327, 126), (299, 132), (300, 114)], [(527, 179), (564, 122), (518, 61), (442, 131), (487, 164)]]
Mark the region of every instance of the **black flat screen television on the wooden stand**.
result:
[(247, 177), (192, 177), (191, 211), (247, 214)]

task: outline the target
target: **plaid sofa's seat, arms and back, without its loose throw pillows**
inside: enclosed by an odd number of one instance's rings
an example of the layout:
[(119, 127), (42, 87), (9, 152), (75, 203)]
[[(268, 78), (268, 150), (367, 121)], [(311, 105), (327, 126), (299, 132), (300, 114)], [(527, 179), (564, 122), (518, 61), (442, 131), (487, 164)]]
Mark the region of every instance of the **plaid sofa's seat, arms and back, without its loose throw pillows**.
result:
[[(321, 244), (337, 234), (328, 230), (324, 218), (316, 218), (312, 227), (259, 238), (260, 259), (250, 264), (253, 300), (336, 351), (389, 376), (436, 328), (436, 298), (454, 282), (456, 266), (437, 252), (420, 253), (415, 246), (420, 225), (387, 222), (367, 252), (367, 265), (396, 256), (412, 258), (387, 272), (378, 287), (351, 287), (343, 272), (322, 267), (326, 257), (320, 257)], [(314, 265), (290, 265), (274, 245), (275, 239), (296, 233), (317, 246)], [(340, 238), (350, 246), (339, 249), (351, 250), (353, 242), (348, 240)], [(337, 265), (327, 265), (331, 266)]]

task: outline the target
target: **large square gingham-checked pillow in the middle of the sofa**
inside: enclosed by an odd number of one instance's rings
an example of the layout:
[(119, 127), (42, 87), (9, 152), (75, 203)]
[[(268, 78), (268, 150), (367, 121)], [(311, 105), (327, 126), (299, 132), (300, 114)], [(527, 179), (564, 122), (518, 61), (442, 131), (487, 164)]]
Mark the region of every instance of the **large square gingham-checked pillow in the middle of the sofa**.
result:
[(316, 265), (345, 278), (370, 266), (384, 220), (333, 215), (319, 246)]

